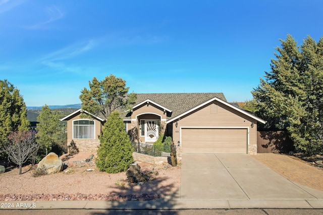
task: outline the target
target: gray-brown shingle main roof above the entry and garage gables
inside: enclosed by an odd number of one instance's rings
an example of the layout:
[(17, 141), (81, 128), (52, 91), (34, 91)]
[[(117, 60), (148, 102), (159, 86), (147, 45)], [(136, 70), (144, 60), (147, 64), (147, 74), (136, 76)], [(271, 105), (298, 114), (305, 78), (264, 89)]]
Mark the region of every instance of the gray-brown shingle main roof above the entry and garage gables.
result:
[(136, 104), (149, 99), (172, 110), (171, 119), (214, 97), (227, 101), (223, 93), (142, 93), (137, 94)]

